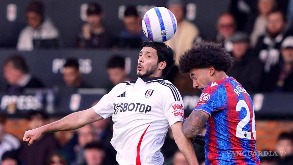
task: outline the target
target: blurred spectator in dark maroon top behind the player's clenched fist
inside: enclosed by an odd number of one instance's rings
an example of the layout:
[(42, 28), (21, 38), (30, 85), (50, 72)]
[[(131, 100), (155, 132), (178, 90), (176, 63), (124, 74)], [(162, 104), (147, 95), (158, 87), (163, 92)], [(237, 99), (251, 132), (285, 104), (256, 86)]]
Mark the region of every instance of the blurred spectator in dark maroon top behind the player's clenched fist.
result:
[[(41, 111), (30, 111), (26, 119), (29, 121), (29, 129), (35, 129), (45, 125), (47, 115)], [(19, 158), (27, 165), (46, 164), (50, 154), (59, 149), (59, 143), (53, 133), (43, 134), (34, 144), (33, 146), (28, 146), (25, 142), (21, 144)]]

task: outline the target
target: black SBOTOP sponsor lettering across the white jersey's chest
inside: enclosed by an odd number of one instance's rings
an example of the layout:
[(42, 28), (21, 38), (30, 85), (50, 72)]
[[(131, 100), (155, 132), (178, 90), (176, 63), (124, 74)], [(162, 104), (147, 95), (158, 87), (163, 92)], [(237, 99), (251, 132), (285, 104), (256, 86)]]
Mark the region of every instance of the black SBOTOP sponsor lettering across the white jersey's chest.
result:
[(126, 112), (126, 111), (133, 111), (133, 112), (141, 112), (141, 113), (147, 113), (151, 111), (151, 106), (141, 104), (141, 103), (130, 103), (128, 104), (127, 102), (125, 103), (120, 103), (120, 104), (115, 104), (113, 106), (114, 109), (114, 115), (117, 114), (118, 111), (120, 112)]

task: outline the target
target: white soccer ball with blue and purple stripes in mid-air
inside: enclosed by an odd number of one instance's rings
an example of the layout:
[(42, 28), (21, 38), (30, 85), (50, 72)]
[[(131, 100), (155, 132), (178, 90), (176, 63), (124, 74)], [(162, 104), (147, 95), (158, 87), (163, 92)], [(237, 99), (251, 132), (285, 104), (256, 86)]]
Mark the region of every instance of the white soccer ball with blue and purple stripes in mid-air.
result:
[(165, 42), (172, 38), (177, 29), (174, 14), (164, 7), (149, 9), (142, 19), (142, 30), (150, 40)]

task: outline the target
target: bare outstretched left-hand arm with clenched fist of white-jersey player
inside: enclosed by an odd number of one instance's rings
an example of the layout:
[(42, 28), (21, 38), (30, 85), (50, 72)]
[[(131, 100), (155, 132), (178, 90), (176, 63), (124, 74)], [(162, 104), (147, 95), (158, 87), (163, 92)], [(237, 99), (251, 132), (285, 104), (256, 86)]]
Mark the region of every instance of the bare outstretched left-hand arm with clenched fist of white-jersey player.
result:
[(102, 119), (104, 118), (98, 115), (93, 110), (93, 108), (74, 112), (56, 122), (52, 122), (36, 129), (25, 131), (23, 141), (28, 142), (28, 145), (31, 146), (33, 142), (38, 139), (42, 134), (49, 132), (74, 130), (83, 127), (86, 124), (96, 122)]

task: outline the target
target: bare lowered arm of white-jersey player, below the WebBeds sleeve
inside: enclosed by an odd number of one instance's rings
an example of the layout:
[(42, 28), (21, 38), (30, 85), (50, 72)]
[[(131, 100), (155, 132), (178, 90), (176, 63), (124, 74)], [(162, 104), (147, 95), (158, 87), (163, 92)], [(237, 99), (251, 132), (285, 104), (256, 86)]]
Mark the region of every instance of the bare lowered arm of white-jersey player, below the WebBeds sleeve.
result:
[(195, 151), (193, 145), (187, 137), (184, 136), (182, 132), (182, 122), (178, 121), (171, 126), (174, 140), (179, 148), (179, 150), (184, 155), (189, 165), (198, 165), (197, 158), (195, 156)]

